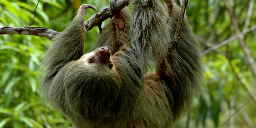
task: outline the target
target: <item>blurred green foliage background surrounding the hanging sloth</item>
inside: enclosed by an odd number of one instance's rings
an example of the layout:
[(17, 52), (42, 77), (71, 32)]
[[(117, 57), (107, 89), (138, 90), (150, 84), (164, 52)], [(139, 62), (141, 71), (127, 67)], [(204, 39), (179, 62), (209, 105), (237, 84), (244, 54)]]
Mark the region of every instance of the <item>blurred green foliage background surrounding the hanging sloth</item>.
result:
[[(180, 4), (180, 0), (177, 0)], [(224, 2), (227, 2), (227, 5)], [(25, 26), (34, 17), (37, 0), (0, 0), (0, 27)], [(161, 2), (164, 3), (162, 0)], [(61, 32), (83, 3), (98, 10), (108, 0), (41, 0), (31, 26)], [(254, 0), (189, 0), (186, 15), (202, 51), (256, 24)], [(249, 6), (252, 8), (249, 9)], [(230, 11), (227, 9), (230, 7)], [(248, 11), (249, 10), (249, 11)], [(250, 11), (251, 17), (250, 17)], [(248, 15), (249, 12), (249, 15)], [(85, 19), (95, 12), (88, 10)], [(233, 18), (233, 21), (232, 21)], [(249, 22), (248, 22), (249, 21)], [(234, 23), (238, 25), (235, 29)], [(104, 24), (103, 24), (104, 25)], [(103, 26), (102, 25), (102, 26)], [(90, 30), (85, 49), (94, 50), (98, 27)], [(256, 60), (256, 31), (251, 31), (203, 56), (205, 93), (195, 99), (175, 128), (256, 128), (256, 76), (241, 42)], [(43, 101), (38, 83), (41, 59), (49, 39), (30, 35), (0, 35), (0, 128), (67, 128), (69, 120)], [(250, 101), (248, 101), (250, 100)], [(245, 103), (248, 104), (244, 105)], [(242, 107), (239, 109), (239, 107)], [(236, 110), (239, 110), (235, 112)], [(235, 116), (230, 117), (235, 112)]]

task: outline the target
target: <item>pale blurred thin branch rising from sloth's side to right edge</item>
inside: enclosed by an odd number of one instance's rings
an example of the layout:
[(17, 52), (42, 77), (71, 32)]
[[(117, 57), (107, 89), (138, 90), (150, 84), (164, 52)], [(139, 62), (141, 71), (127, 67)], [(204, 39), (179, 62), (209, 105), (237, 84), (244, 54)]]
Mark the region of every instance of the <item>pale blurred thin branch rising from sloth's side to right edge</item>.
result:
[(209, 53), (209, 52), (211, 52), (213, 50), (216, 50), (219, 47), (224, 46), (224, 45), (230, 43), (231, 41), (236, 40), (239, 37), (243, 37), (245, 34), (247, 34), (248, 32), (251, 32), (251, 31), (253, 31), (255, 29), (256, 29), (256, 25), (250, 27), (249, 29), (246, 29), (246, 30), (242, 31), (240, 34), (237, 34), (237, 35), (235, 35), (233, 37), (230, 37), (227, 40), (222, 41), (221, 43), (218, 43), (215, 46), (210, 47), (209, 49), (204, 50), (203, 52), (201, 52), (201, 56), (203, 56), (203, 55), (205, 55), (205, 54), (207, 54), (207, 53)]

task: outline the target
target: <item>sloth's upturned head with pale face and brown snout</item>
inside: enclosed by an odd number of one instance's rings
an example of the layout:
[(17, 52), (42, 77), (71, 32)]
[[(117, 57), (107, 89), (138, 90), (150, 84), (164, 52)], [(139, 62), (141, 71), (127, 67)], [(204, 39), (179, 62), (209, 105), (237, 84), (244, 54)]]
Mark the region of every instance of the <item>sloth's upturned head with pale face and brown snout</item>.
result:
[[(111, 58), (111, 51), (107, 47), (83, 55), (70, 63), (67, 70), (69, 73), (66, 76), (66, 91), (68, 94), (75, 94), (68, 101), (84, 101), (84, 104), (70, 102), (72, 109), (78, 110), (78, 113), (88, 113), (93, 109), (104, 113), (104, 109), (114, 104), (119, 94), (121, 79)], [(102, 104), (106, 106), (98, 106)], [(90, 105), (87, 112), (84, 111), (88, 108), (85, 105)]]

